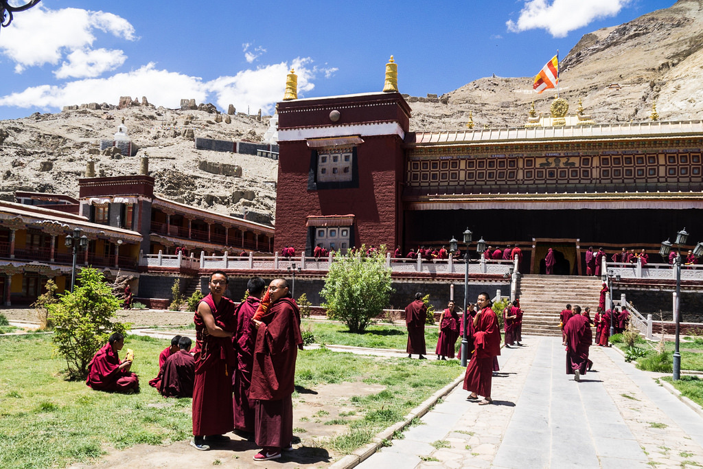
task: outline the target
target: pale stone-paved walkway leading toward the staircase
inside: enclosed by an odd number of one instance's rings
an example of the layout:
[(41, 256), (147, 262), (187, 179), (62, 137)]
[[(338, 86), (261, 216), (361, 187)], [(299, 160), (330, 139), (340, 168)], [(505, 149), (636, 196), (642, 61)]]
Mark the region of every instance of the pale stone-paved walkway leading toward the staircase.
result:
[(492, 406), (457, 387), (359, 468), (682, 468), (703, 465), (703, 417), (613, 349), (565, 374), (560, 338), (503, 349)]

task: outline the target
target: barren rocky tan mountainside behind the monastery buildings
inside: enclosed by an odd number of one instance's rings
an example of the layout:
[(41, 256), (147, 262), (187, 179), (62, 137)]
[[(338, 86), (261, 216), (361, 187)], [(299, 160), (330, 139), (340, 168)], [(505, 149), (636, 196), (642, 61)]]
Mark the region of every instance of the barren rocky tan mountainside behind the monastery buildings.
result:
[[(654, 102), (661, 120), (699, 120), (702, 64), (703, 0), (679, 0), (624, 25), (584, 35), (560, 63), (560, 97), (569, 102), (570, 113), (581, 98), (584, 112), (598, 123), (647, 121)], [(534, 71), (542, 65), (536, 63)], [(439, 98), (408, 98), (411, 130), (465, 129), (469, 113), (475, 129), (520, 127), (532, 101), (538, 113), (548, 113), (555, 96), (553, 90), (534, 94), (532, 81), (485, 77)], [(198, 110), (155, 108), (136, 101), (121, 105), (127, 107), (93, 105), (0, 121), (0, 199), (13, 200), (18, 190), (76, 196), (77, 178), (84, 174), (88, 158), (96, 160), (98, 175), (110, 176), (136, 174), (139, 157), (146, 154), (151, 174), (157, 176), (157, 191), (167, 198), (224, 214), (240, 214), (246, 208), (273, 221), (277, 162), (195, 150), (191, 133), (184, 131), (256, 142), (270, 117), (239, 114), (227, 123), (219, 120), (212, 105)], [(112, 138), (122, 117), (140, 148), (132, 157), (98, 148), (101, 139)], [(208, 166), (203, 161), (238, 165), (242, 175), (205, 172), (200, 169)]]

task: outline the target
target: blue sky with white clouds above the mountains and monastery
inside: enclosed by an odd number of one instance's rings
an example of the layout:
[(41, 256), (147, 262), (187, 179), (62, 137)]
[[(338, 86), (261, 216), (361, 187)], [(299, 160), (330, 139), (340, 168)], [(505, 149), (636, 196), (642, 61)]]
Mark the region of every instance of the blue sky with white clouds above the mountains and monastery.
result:
[(401, 93), (440, 95), (536, 75), (583, 34), (674, 3), (43, 0), (0, 30), (0, 119), (127, 95), (266, 114), (291, 67), (299, 97), (381, 91), (391, 55)]

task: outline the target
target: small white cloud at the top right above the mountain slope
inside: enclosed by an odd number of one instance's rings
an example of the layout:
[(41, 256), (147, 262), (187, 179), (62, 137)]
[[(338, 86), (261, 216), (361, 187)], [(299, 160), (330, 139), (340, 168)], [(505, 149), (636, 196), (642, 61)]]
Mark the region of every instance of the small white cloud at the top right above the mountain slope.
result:
[(517, 22), (508, 20), (508, 30), (543, 29), (552, 37), (565, 37), (598, 18), (614, 16), (632, 0), (527, 0)]

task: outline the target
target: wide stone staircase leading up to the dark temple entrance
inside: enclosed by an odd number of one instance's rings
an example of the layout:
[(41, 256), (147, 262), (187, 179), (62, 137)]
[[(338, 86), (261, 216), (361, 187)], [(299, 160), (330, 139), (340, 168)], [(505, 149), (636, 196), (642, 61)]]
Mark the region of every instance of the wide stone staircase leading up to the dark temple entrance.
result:
[(600, 299), (600, 277), (523, 275), (520, 307), (524, 335), (561, 335), (559, 313), (567, 304), (591, 307), (591, 319)]

